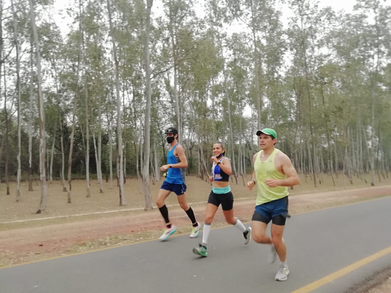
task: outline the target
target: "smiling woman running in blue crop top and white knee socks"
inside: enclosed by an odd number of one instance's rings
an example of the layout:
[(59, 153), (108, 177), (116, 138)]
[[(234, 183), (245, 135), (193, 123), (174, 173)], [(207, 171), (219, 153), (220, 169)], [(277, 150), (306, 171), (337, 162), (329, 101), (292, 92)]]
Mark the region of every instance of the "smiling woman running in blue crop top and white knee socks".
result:
[(210, 158), (213, 162), (212, 176), (209, 181), (213, 182), (213, 188), (210, 192), (208, 203), (206, 204), (204, 229), (202, 231), (202, 243), (193, 248), (193, 253), (201, 256), (207, 256), (206, 244), (210, 234), (210, 224), (221, 204), (227, 223), (234, 225), (243, 232), (244, 244), (251, 241), (251, 227), (244, 227), (243, 223), (233, 216), (233, 194), (230, 187), (230, 175), (232, 173), (231, 161), (225, 155), (225, 147), (222, 142), (213, 145), (213, 156)]

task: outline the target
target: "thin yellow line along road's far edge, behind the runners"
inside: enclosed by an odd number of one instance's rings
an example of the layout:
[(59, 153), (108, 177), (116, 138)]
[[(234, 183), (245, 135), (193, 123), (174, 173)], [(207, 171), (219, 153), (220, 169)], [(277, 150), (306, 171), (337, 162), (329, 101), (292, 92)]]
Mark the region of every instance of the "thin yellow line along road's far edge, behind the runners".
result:
[[(363, 202), (373, 202), (375, 200), (381, 200), (381, 199), (384, 199), (384, 198), (391, 198), (391, 196), (385, 196), (385, 197), (369, 199), (369, 200), (362, 200), (360, 202), (352, 202), (350, 204), (337, 205), (337, 206), (334, 206), (334, 207), (324, 207), (324, 208), (321, 208), (321, 209), (314, 209), (314, 210), (311, 210), (311, 211), (305, 211), (305, 212), (301, 212), (301, 213), (294, 213), (292, 215), (308, 214), (308, 213), (312, 213), (312, 212), (316, 212), (316, 211), (323, 211), (323, 210), (326, 210), (326, 209), (334, 209), (336, 207), (344, 207), (344, 206), (347, 206), (347, 205), (361, 204)], [(249, 223), (251, 223), (251, 221), (243, 222), (243, 223), (244, 224), (249, 224)], [(227, 227), (229, 227), (229, 225), (222, 226), (222, 227), (213, 227), (211, 230), (222, 229), (222, 228), (227, 228)], [(174, 234), (174, 235), (171, 235), (170, 238), (177, 237), (177, 236), (183, 236), (183, 235), (190, 235), (190, 233)], [(29, 261), (27, 263), (11, 264), (9, 266), (2, 266), (2, 267), (0, 267), (0, 270), (1, 269), (5, 269), (5, 268), (12, 268), (14, 266), (22, 266), (22, 265), (25, 265), (25, 264), (39, 263), (41, 261), (49, 261), (51, 259), (58, 259), (58, 258), (63, 258), (63, 257), (68, 257), (68, 256), (73, 256), (73, 255), (86, 254), (86, 253), (90, 253), (90, 252), (108, 250), (108, 249), (118, 248), (118, 247), (125, 247), (125, 246), (130, 246), (130, 245), (135, 245), (135, 244), (140, 244), (140, 243), (146, 243), (146, 242), (151, 242), (151, 241), (157, 241), (157, 239), (147, 239), (147, 240), (143, 240), (143, 241), (127, 243), (127, 244), (124, 244), (124, 245), (113, 245), (113, 246), (110, 246), (110, 247), (97, 248), (97, 249), (92, 249), (92, 250), (87, 250), (87, 251), (82, 251), (82, 252), (75, 252), (75, 253), (72, 253), (72, 254), (58, 255), (58, 256), (54, 256), (54, 257), (48, 257), (48, 258), (45, 258), (45, 259), (38, 259), (36, 261)]]

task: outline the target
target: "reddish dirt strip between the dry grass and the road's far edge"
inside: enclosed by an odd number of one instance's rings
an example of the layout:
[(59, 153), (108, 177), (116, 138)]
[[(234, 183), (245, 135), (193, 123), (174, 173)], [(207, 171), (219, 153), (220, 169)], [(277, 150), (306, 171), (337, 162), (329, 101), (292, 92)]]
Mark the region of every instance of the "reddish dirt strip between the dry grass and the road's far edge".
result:
[[(390, 194), (390, 190), (391, 186), (377, 186), (319, 193), (292, 194), (289, 200), (289, 211), (291, 214), (295, 214), (386, 197)], [(200, 204), (192, 204), (197, 221), (200, 223), (203, 223), (204, 220), (205, 200)], [(244, 222), (248, 222), (251, 220), (254, 206), (255, 196), (250, 200), (235, 197), (235, 216)], [(27, 225), (30, 223), (23, 223), (26, 226), (19, 229), (6, 227), (5, 229), (7, 230), (0, 231), (0, 266), (156, 239), (164, 228), (161, 214), (157, 209), (146, 212), (126, 212), (122, 216), (113, 216), (113, 214), (94, 216), (99, 218), (87, 220), (80, 220), (80, 218), (79, 220), (67, 220), (66, 218), (61, 218), (61, 221), (66, 220), (68, 222), (47, 225), (47, 220), (42, 220), (32, 221), (39, 224), (36, 227)], [(169, 208), (169, 216), (171, 222), (177, 225), (178, 234), (190, 234), (192, 228), (190, 221), (186, 213), (178, 207), (178, 204)], [(224, 225), (226, 225), (224, 216), (221, 208), (219, 208), (212, 226), (219, 227)]]

